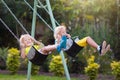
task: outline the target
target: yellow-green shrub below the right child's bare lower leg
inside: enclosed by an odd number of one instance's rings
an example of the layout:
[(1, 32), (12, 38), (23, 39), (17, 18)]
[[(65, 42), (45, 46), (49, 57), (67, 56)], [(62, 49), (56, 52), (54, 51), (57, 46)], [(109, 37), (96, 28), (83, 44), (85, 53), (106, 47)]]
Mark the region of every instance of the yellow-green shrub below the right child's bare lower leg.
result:
[(88, 66), (85, 67), (85, 73), (89, 76), (89, 80), (96, 80), (98, 69), (100, 67), (99, 64), (94, 62), (95, 56), (90, 56), (87, 60)]

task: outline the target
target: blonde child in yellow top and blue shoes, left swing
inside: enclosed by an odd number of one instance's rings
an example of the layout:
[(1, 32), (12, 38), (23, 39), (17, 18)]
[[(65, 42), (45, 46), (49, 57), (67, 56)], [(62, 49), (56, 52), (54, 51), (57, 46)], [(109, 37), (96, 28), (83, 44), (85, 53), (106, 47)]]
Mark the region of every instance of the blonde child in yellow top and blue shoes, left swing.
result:
[(25, 58), (32, 46), (34, 46), (41, 54), (47, 55), (49, 52), (56, 50), (56, 48), (65, 48), (66, 37), (62, 37), (60, 44), (44, 46), (41, 42), (38, 42), (29, 34), (21, 35), (20, 37), (20, 47), (21, 47), (21, 57)]

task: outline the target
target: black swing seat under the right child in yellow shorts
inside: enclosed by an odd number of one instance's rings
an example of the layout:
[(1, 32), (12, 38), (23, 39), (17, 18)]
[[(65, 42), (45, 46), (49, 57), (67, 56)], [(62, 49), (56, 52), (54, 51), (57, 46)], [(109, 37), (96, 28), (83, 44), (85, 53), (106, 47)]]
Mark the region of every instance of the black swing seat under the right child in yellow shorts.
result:
[(69, 41), (67, 41), (67, 45), (69, 44), (69, 48), (64, 50), (67, 55), (71, 56), (71, 57), (75, 57), (80, 50), (83, 49), (83, 47), (80, 47), (74, 40), (72, 39), (68, 39)]

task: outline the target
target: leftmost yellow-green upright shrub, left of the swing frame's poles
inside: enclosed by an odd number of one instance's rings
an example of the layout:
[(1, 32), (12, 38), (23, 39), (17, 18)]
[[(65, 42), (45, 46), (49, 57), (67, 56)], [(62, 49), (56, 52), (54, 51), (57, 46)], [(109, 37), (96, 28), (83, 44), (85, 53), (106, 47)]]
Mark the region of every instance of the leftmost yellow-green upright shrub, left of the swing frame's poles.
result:
[(11, 74), (15, 74), (18, 71), (19, 66), (19, 50), (17, 48), (10, 48), (7, 56), (7, 69), (11, 72)]

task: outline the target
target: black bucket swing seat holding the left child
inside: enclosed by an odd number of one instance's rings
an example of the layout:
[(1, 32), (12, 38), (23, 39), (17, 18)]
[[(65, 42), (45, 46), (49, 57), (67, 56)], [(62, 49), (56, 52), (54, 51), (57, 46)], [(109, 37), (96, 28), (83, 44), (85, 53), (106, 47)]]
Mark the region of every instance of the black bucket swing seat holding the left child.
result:
[(27, 58), (33, 64), (40, 66), (45, 62), (47, 56), (48, 55), (44, 55), (44, 54), (38, 52), (38, 50), (36, 50), (35, 47), (32, 46), (29, 53), (28, 53), (28, 55), (27, 55)]

